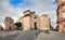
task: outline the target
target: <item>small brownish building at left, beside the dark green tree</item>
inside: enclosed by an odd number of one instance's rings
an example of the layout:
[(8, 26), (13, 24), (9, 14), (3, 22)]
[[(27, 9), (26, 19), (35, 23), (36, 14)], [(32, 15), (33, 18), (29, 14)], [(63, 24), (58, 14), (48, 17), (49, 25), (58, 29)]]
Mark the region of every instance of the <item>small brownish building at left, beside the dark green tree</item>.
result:
[(5, 24), (5, 30), (10, 30), (10, 29), (13, 30), (15, 28), (13, 18), (9, 16), (5, 17), (4, 24)]

